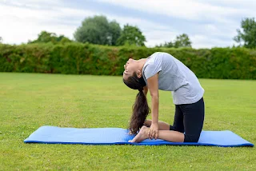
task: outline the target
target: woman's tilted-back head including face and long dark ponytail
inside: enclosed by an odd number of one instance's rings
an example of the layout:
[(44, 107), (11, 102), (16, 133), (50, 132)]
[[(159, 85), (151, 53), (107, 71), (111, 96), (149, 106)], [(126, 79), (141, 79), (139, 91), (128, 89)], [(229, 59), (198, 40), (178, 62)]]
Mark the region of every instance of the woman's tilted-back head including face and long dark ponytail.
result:
[(123, 82), (130, 87), (130, 89), (138, 89), (129, 127), (130, 133), (135, 134), (140, 128), (142, 128), (148, 113), (150, 113), (146, 96), (143, 93), (143, 87), (146, 85), (146, 82), (142, 77), (142, 66), (140, 65), (140, 62), (129, 59), (124, 68), (125, 71), (123, 73)]

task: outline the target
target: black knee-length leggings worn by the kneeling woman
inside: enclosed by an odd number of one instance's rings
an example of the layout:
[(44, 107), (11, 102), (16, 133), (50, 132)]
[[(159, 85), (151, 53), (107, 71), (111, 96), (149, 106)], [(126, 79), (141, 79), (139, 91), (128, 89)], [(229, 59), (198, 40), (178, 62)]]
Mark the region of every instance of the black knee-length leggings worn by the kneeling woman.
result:
[(170, 125), (170, 130), (184, 133), (184, 142), (198, 142), (204, 117), (203, 98), (193, 104), (175, 105), (174, 125)]

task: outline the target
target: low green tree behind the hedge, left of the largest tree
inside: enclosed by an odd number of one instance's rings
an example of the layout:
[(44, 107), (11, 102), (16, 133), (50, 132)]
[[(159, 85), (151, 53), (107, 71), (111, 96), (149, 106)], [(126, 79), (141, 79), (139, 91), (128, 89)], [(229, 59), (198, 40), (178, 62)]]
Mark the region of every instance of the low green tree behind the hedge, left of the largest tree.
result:
[(38, 34), (38, 38), (34, 41), (29, 41), (28, 43), (46, 43), (46, 42), (52, 42), (54, 44), (56, 43), (65, 43), (65, 42), (72, 42), (69, 38), (66, 38), (64, 35), (60, 35), (59, 37), (50, 32), (42, 31), (40, 34)]

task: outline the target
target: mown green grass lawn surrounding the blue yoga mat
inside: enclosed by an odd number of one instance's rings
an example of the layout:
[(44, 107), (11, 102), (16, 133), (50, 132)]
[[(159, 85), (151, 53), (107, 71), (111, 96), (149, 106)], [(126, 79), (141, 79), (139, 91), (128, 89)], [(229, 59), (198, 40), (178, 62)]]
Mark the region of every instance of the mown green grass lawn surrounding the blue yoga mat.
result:
[[(200, 79), (205, 130), (256, 144), (256, 82)], [(255, 170), (256, 148), (46, 145), (23, 140), (42, 125), (126, 128), (136, 91), (121, 77), (0, 73), (0, 170)], [(173, 122), (170, 92), (159, 120)]]

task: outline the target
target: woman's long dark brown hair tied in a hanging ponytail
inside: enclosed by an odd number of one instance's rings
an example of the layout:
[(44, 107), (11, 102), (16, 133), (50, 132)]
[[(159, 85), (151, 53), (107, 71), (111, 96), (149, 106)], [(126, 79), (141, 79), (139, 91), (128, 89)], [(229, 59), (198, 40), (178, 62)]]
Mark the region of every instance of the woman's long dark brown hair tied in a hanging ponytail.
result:
[(133, 113), (130, 118), (130, 133), (136, 134), (138, 130), (142, 128), (142, 125), (146, 121), (147, 115), (150, 113), (149, 105), (146, 101), (146, 96), (143, 93), (143, 87), (146, 85), (143, 77), (138, 78), (136, 73), (123, 82), (130, 87), (130, 89), (138, 89), (138, 94), (133, 105)]

